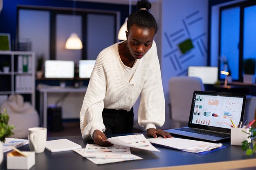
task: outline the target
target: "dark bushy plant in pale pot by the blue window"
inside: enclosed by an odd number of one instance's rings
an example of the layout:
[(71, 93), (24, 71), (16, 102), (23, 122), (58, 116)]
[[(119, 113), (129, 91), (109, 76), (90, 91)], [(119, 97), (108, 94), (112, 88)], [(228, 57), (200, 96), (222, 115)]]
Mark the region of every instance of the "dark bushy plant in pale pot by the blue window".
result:
[(247, 58), (243, 62), (244, 77), (243, 82), (255, 84), (255, 59)]

